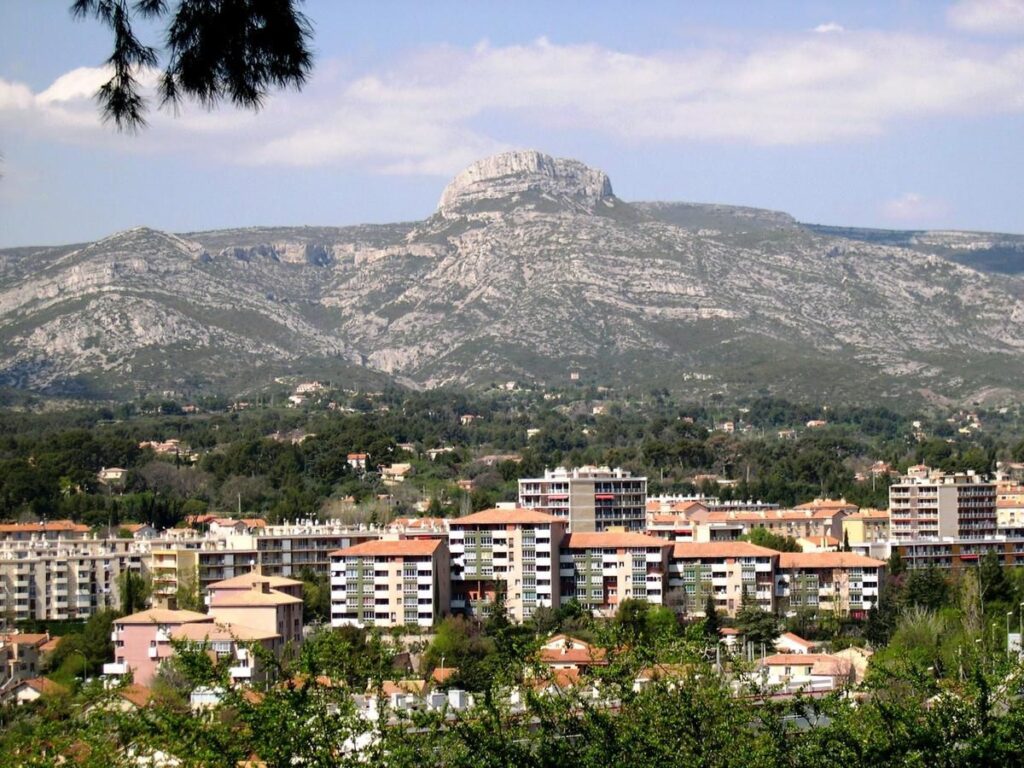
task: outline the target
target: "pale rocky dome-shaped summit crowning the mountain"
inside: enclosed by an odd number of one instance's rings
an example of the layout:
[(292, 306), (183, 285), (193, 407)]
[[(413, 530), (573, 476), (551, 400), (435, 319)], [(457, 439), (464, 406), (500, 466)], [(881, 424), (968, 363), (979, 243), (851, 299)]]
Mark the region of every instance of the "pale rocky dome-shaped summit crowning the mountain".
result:
[(445, 218), (503, 206), (569, 205), (593, 210), (613, 199), (604, 171), (578, 160), (523, 150), (479, 160), (444, 187), (437, 212)]

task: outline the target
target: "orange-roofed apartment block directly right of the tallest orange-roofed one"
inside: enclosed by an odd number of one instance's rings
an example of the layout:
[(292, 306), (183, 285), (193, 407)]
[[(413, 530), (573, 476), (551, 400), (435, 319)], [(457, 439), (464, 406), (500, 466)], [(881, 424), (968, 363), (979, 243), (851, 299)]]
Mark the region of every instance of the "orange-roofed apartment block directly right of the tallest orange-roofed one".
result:
[(673, 546), (643, 534), (569, 534), (559, 554), (561, 600), (605, 616), (614, 615), (623, 600), (663, 605)]

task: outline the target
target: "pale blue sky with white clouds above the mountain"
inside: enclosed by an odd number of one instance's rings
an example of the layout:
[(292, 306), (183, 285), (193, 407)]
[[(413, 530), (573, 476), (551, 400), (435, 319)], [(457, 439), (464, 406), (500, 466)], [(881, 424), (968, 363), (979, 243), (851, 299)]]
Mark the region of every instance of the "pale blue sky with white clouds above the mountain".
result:
[(422, 219), (512, 148), (628, 201), (1024, 232), (1024, 0), (308, 0), (301, 91), (136, 135), (99, 119), (110, 32), (70, 4), (0, 0), (0, 247)]

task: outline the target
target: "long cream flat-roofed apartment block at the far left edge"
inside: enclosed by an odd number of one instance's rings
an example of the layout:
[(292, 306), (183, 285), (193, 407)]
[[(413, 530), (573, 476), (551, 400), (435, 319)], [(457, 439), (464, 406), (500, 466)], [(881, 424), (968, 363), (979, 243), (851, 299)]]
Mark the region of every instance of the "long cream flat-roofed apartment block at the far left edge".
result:
[(117, 606), (118, 578), (140, 572), (132, 540), (32, 539), (0, 543), (0, 622), (87, 618)]

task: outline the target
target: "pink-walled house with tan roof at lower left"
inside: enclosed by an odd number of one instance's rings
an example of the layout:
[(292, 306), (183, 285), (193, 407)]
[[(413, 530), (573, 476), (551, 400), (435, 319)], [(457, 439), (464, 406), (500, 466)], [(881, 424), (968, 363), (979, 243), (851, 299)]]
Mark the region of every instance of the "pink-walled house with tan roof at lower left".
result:
[(148, 686), (161, 662), (174, 653), (171, 635), (186, 624), (212, 623), (213, 616), (193, 610), (150, 608), (114, 622), (114, 663), (103, 665), (103, 674), (123, 677)]

